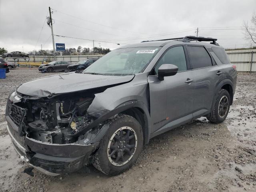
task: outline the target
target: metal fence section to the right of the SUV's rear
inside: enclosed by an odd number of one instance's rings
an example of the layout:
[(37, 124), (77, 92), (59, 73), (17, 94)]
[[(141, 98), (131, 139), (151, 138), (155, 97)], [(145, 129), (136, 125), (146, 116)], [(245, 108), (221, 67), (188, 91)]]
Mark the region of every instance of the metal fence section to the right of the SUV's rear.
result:
[(226, 53), (237, 71), (256, 72), (256, 49), (227, 50)]

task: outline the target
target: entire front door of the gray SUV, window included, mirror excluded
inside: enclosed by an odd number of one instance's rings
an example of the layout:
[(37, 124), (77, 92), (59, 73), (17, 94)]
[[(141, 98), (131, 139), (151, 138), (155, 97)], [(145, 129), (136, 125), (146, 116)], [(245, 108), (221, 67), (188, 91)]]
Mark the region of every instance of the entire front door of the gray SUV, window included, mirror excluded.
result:
[[(187, 70), (187, 60), (183, 46), (171, 47), (164, 52), (156, 64), (154, 68), (156, 76), (148, 77), (153, 132), (169, 122), (189, 114), (192, 116), (195, 84), (193, 73)], [(165, 76), (164, 80), (159, 80), (158, 68), (162, 64), (178, 66), (177, 74)]]

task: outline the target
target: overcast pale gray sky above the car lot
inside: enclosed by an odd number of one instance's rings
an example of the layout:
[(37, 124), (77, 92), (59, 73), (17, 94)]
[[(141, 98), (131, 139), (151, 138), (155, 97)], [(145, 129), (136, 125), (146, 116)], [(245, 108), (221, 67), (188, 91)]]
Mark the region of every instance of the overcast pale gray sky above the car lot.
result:
[[(256, 0), (0, 0), (0, 47), (29, 52), (52, 49), (46, 24), (53, 10), (54, 34), (89, 40), (54, 37), (66, 48), (111, 50), (142, 40), (186, 35), (218, 38), (225, 48), (248, 47), (241, 30), (250, 21)], [(251, 25), (251, 24), (250, 24)], [(120, 45), (117, 45), (120, 43)]]

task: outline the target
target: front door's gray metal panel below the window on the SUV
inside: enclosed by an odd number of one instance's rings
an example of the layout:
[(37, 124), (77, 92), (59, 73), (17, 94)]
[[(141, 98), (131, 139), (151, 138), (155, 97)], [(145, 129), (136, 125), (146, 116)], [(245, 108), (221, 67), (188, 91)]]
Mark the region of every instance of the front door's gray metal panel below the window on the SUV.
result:
[(150, 114), (152, 131), (160, 129), (167, 123), (182, 118), (193, 112), (194, 80), (191, 71), (178, 72), (174, 76), (149, 76)]

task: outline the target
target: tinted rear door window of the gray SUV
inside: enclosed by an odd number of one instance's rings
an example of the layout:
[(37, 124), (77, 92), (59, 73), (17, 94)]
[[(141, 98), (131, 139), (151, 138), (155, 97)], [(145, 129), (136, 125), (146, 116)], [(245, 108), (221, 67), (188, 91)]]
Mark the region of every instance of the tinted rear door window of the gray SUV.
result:
[(187, 46), (192, 69), (212, 66), (212, 59), (202, 46)]

